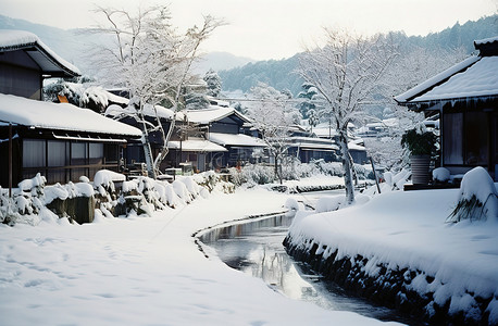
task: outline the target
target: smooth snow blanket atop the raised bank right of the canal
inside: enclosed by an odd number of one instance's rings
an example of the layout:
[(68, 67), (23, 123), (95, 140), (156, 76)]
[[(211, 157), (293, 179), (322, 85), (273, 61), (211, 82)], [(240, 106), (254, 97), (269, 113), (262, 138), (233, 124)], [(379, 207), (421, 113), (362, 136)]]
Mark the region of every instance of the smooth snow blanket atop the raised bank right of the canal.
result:
[[(313, 243), (319, 250), (326, 248), (324, 259), (336, 250), (335, 260), (361, 255), (368, 260), (362, 271), (374, 278), (381, 265), (419, 271), (409, 284), (411, 290), (434, 293), (440, 306), (449, 302), (449, 313), (478, 316), (475, 299), (490, 298), (485, 309), (489, 324), (497, 325), (498, 216), (446, 223), (459, 192), (393, 191), (373, 198), (359, 196), (357, 205), (336, 212), (298, 212), (289, 229), (290, 241), (308, 249)], [(495, 215), (497, 208), (489, 209)], [(434, 280), (427, 281), (431, 277)]]

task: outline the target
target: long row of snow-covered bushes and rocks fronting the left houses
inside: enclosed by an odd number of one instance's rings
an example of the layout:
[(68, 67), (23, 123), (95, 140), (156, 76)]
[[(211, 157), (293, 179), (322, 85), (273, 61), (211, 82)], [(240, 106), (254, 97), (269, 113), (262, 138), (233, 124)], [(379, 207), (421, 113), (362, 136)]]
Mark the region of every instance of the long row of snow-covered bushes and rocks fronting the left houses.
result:
[[(148, 177), (125, 179), (122, 174), (103, 170), (97, 172), (92, 183), (84, 177), (76, 184), (46, 186), (45, 177), (37, 174), (20, 183), (12, 198), (0, 187), (0, 223), (37, 225), (40, 221), (53, 223), (61, 217), (66, 217), (66, 223), (88, 223), (94, 218), (101, 222), (104, 217), (150, 216), (153, 211), (175, 209), (199, 196), (208, 197), (209, 191), (198, 184), (202, 181), (212, 185), (212, 190), (234, 191), (233, 184), (221, 180), (214, 173), (180, 177), (173, 185)], [(90, 208), (90, 212), (77, 209), (82, 200), (86, 200), (84, 205)]]

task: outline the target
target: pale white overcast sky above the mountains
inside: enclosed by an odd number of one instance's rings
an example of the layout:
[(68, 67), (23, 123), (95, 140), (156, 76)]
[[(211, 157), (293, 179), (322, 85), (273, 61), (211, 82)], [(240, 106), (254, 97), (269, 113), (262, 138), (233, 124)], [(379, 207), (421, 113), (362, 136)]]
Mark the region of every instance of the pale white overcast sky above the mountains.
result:
[(324, 26), (424, 36), (498, 12), (498, 0), (0, 0), (0, 14), (64, 29), (90, 27), (94, 3), (129, 11), (170, 3), (180, 30), (211, 14), (229, 24), (203, 50), (254, 60), (289, 58), (319, 39)]

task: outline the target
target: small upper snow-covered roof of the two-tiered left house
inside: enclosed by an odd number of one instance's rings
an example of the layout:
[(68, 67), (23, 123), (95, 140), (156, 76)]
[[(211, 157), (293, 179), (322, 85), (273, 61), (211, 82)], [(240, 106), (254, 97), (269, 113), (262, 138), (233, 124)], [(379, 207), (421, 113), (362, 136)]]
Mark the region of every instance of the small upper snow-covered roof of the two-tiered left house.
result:
[(55, 54), (35, 34), (25, 30), (0, 29), (0, 52), (15, 50), (24, 50), (46, 74), (67, 77), (80, 75), (76, 66)]

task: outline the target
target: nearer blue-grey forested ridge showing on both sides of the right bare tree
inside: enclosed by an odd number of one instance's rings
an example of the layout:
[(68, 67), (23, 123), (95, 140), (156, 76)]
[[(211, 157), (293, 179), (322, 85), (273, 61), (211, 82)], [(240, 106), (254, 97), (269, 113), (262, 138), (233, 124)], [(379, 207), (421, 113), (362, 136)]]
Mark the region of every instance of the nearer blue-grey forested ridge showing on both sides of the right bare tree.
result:
[[(395, 33), (401, 50), (409, 51), (415, 47), (426, 50), (456, 49), (463, 47), (466, 53), (474, 51), (473, 41), (498, 35), (498, 15), (483, 17), (476, 22), (466, 22), (463, 25), (455, 24), (439, 33), (427, 36), (406, 36), (404, 33)], [(245, 66), (219, 72), (223, 82), (223, 90), (240, 89), (244, 92), (263, 82), (275, 89), (290, 90), (295, 96), (301, 91), (302, 80), (294, 72), (298, 66), (298, 55), (285, 60), (270, 60), (248, 63)]]

